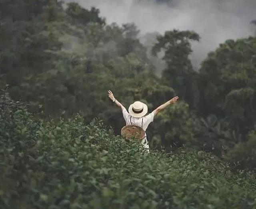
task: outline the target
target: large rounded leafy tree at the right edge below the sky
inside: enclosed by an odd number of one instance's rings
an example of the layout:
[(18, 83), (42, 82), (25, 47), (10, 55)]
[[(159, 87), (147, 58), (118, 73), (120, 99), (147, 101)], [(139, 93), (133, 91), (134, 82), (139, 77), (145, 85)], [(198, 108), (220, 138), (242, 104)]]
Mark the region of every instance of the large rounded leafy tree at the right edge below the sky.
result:
[(255, 124), (256, 38), (227, 40), (209, 54), (200, 70), (200, 105), (203, 114), (232, 119), (243, 135)]

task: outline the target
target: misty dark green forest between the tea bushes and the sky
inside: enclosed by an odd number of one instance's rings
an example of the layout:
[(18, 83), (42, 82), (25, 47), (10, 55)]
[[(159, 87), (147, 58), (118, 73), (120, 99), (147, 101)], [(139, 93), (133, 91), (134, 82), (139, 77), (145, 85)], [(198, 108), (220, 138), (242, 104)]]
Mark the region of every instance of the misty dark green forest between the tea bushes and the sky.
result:
[(226, 40), (197, 72), (190, 54), (200, 34), (166, 31), (151, 48), (152, 56), (164, 53), (159, 77), (139, 28), (106, 24), (97, 8), (3, 0), (0, 24), (0, 88), (7, 85), (38, 119), (80, 112), (85, 123), (98, 117), (119, 134), (124, 120), (107, 90), (126, 107), (140, 100), (150, 111), (178, 95), (181, 101), (149, 127), (151, 150), (193, 147), (237, 169), (255, 169), (256, 37)]

